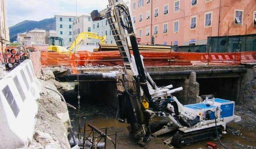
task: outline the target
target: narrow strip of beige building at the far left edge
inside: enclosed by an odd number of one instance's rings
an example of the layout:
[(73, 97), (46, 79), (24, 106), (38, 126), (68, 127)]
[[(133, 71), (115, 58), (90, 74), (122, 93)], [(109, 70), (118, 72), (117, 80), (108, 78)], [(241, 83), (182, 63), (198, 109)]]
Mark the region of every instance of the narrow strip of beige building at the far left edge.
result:
[(10, 42), (9, 36), (9, 28), (7, 27), (7, 20), (6, 20), (6, 7), (5, 7), (5, 0), (1, 0), (1, 8), (0, 8), (0, 42), (1, 46), (5, 46)]

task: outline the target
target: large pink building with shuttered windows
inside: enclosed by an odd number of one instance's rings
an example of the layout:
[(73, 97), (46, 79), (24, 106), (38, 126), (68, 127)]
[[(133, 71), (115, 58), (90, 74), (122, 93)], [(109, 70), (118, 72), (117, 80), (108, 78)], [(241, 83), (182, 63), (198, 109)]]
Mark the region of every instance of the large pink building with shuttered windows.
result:
[(199, 45), (209, 36), (256, 34), (255, 0), (131, 0), (141, 44)]

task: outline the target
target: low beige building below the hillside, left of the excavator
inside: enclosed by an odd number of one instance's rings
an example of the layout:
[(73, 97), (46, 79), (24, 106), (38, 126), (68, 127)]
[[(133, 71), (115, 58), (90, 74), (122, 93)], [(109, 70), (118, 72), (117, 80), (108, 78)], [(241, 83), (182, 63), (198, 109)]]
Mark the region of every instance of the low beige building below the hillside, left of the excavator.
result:
[(31, 31), (17, 34), (17, 41), (19, 44), (24, 44), (24, 36), (31, 37), (31, 44), (32, 45), (42, 45), (46, 44), (45, 42), (45, 30), (41, 29), (33, 29)]

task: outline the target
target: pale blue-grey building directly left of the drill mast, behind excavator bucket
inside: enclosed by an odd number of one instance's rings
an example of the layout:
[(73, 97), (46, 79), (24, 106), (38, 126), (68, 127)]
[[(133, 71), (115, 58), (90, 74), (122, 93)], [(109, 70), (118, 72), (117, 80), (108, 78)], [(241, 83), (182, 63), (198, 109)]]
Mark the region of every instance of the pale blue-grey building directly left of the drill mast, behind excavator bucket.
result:
[[(92, 32), (98, 33), (99, 36), (107, 35), (105, 43), (115, 44), (114, 37), (112, 35), (112, 32), (110, 31), (110, 27), (108, 25), (106, 18), (100, 21), (92, 21), (91, 25), (92, 25)], [(92, 39), (91, 44), (98, 45), (99, 40)]]

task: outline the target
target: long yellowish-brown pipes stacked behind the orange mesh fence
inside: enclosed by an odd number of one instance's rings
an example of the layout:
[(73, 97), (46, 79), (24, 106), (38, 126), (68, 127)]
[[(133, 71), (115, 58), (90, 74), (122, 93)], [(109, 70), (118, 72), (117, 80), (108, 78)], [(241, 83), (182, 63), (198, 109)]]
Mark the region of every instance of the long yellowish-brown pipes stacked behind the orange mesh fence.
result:
[[(171, 51), (171, 47), (168, 46), (151, 46), (151, 45), (138, 45), (139, 50), (142, 51)], [(129, 45), (129, 49), (132, 50), (132, 46)], [(118, 51), (116, 44), (100, 44), (98, 51)]]

